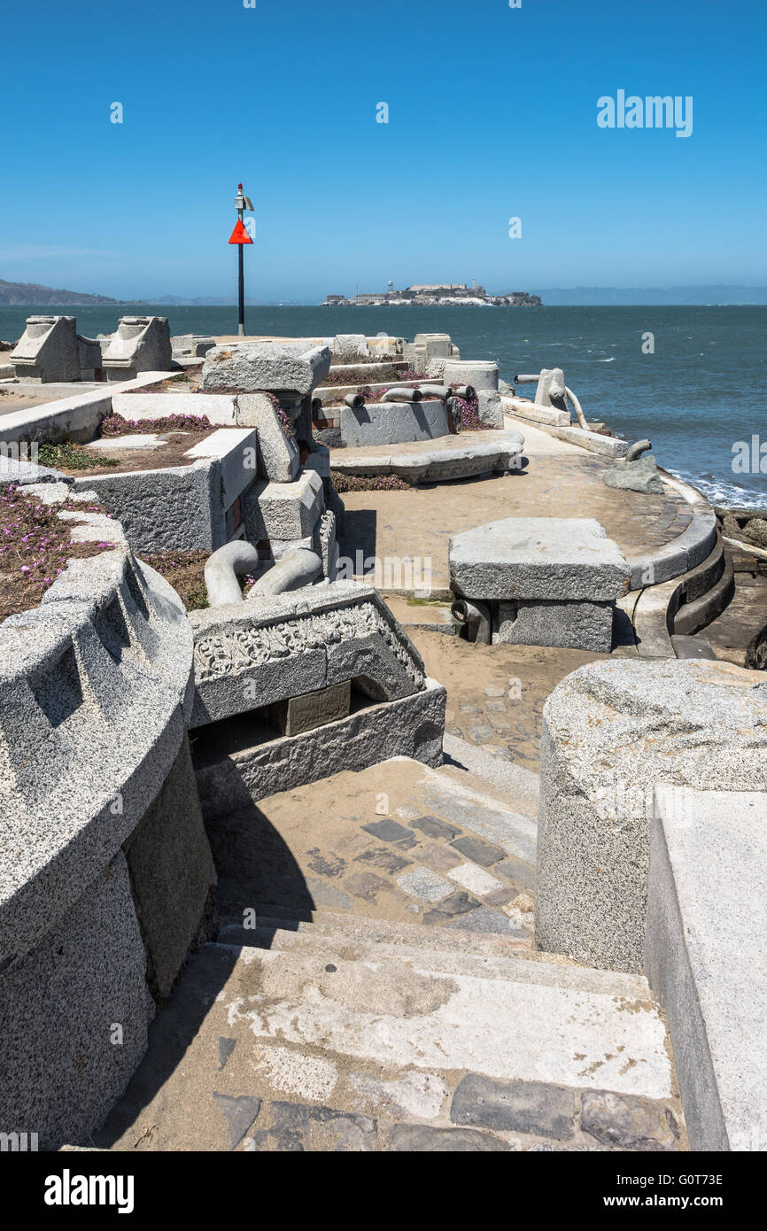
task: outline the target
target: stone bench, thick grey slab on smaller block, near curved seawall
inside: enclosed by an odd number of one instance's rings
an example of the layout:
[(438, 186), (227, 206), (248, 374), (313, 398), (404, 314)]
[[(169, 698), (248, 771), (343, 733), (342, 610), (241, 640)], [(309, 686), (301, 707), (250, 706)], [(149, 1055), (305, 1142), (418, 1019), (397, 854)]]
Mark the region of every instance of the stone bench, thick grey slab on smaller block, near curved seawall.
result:
[(492, 640), (609, 652), (628, 588), (619, 547), (580, 517), (508, 517), (456, 534), (451, 588), (492, 607)]

